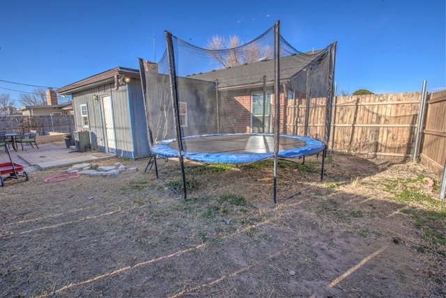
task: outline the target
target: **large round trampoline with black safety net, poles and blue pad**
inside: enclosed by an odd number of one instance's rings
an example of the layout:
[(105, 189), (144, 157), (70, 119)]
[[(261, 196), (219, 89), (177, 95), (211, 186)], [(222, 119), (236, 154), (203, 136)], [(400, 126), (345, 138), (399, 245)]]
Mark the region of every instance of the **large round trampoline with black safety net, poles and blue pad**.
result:
[[(165, 37), (160, 61), (139, 58), (139, 68), (151, 151), (153, 156), (179, 158), (183, 186), (183, 158), (208, 163), (275, 159), (276, 175), (279, 157), (325, 150), (336, 42), (299, 52), (282, 38), (279, 22), (231, 48), (224, 48), (219, 36), (208, 48), (167, 31)], [(287, 105), (321, 97), (326, 99), (323, 135), (287, 134)], [(309, 116), (305, 111), (305, 118)], [(156, 168), (155, 158), (153, 162)]]

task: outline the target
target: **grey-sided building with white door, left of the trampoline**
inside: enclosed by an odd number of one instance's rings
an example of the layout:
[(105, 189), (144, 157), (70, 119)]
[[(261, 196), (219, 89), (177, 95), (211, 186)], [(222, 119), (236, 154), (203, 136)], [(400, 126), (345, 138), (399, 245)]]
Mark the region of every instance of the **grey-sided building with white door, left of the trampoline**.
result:
[(56, 92), (72, 95), (76, 130), (89, 132), (91, 148), (131, 159), (150, 155), (139, 70), (113, 68)]

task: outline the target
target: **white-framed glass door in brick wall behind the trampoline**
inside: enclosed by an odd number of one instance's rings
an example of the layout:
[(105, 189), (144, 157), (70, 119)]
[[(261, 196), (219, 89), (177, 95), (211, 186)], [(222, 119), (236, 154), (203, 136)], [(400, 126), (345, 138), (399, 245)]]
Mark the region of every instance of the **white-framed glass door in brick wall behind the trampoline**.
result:
[[(265, 120), (264, 122), (263, 119)], [(251, 132), (270, 132), (270, 122), (271, 95), (269, 93), (266, 93), (265, 117), (263, 118), (263, 92), (252, 94)]]

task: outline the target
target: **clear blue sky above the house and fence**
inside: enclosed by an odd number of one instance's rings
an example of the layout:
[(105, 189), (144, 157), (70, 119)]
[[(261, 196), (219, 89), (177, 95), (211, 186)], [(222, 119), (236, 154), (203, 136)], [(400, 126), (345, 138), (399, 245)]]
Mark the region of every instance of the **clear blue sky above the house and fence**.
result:
[[(165, 49), (164, 31), (205, 47), (214, 35), (249, 41), (280, 21), (301, 52), (337, 41), (337, 91), (446, 88), (445, 0), (0, 1), (0, 93), (20, 107), (33, 86), (60, 88)], [(155, 52), (153, 48), (155, 36)], [(66, 101), (60, 98), (59, 102)]]

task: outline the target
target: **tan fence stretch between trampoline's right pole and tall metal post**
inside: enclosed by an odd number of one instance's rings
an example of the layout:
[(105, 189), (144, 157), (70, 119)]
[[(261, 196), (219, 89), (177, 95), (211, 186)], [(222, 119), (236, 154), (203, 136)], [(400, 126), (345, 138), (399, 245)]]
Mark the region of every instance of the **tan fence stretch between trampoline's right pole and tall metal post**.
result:
[(330, 150), (372, 157), (411, 157), (421, 93), (337, 97)]

